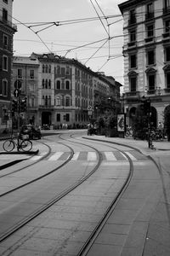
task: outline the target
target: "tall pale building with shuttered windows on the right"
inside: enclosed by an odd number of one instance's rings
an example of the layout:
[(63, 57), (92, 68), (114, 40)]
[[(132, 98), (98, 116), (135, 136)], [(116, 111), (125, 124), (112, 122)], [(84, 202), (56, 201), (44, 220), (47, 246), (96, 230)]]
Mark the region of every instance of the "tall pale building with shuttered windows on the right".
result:
[(142, 96), (151, 102), (151, 124), (163, 123), (170, 102), (170, 1), (119, 4), (124, 20), (124, 108), (128, 125)]

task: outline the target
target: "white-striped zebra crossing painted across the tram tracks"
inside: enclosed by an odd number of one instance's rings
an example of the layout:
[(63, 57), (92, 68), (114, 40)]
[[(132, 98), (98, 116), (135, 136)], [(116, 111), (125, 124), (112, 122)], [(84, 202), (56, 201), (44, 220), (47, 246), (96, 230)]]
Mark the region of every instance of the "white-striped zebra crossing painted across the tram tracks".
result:
[[(42, 152), (40, 154), (37, 154), (33, 157), (31, 157), (30, 160), (40, 160), (47, 152)], [(104, 161), (127, 161), (127, 156), (125, 154), (122, 154), (122, 152), (119, 151), (105, 151), (101, 152), (103, 156)], [(137, 154), (136, 151), (131, 150), (125, 152), (131, 160), (138, 161), (138, 160), (147, 160), (147, 158), (142, 154)], [(56, 160), (67, 160), (70, 156), (69, 152), (53, 152), (50, 154), (45, 160), (48, 161), (56, 161)], [(95, 162), (98, 160), (98, 155), (94, 151), (80, 151), (75, 152), (73, 157), (71, 158), (71, 161), (78, 161), (78, 160), (86, 160), (86, 161), (92, 161)]]

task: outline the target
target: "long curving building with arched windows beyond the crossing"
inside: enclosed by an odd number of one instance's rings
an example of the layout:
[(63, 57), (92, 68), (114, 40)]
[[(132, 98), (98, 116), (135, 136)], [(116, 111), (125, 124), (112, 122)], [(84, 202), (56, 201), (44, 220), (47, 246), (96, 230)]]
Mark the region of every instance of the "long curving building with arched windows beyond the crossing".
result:
[(94, 73), (75, 59), (32, 53), (14, 57), (13, 69), (13, 90), (18, 88), (20, 96), (27, 97), (26, 123), (56, 129), (83, 127), (103, 113), (101, 108), (95, 112), (97, 104), (103, 102), (108, 108), (109, 97), (119, 102), (115, 79)]

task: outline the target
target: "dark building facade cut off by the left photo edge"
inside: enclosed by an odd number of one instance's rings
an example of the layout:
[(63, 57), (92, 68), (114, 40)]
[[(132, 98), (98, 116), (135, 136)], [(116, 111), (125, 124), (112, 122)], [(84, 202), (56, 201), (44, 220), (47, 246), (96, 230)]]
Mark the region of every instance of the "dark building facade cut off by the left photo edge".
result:
[(11, 72), (13, 35), (12, 0), (0, 2), (0, 132), (10, 126)]

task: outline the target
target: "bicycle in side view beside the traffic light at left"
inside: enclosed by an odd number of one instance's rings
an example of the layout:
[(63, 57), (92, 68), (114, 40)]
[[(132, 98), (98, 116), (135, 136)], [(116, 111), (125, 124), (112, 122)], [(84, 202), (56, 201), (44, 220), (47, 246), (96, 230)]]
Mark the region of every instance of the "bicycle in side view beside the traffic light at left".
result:
[(17, 142), (14, 141), (14, 136), (11, 136), (3, 143), (3, 149), (6, 152), (13, 151), (15, 147), (17, 147), (18, 151), (21, 149), (24, 152), (28, 152), (32, 148), (32, 143), (26, 136), (19, 137)]

